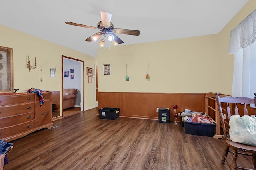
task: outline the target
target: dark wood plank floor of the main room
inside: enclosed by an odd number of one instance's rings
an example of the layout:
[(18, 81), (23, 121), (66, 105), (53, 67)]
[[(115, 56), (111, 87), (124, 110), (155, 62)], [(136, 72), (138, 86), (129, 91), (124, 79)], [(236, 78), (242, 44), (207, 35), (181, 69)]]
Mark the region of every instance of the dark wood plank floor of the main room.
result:
[[(180, 125), (119, 117), (100, 119), (97, 109), (54, 121), (14, 140), (4, 170), (225, 170), (224, 141), (185, 134)], [(238, 156), (250, 166), (251, 158)]]

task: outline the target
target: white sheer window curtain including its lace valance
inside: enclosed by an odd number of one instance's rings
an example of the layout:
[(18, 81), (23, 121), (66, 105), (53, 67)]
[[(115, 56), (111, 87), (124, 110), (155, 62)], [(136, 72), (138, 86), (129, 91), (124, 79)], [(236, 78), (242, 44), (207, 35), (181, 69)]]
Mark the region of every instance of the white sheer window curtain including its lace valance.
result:
[(233, 97), (254, 98), (256, 93), (256, 10), (230, 34), (229, 53), (234, 54)]

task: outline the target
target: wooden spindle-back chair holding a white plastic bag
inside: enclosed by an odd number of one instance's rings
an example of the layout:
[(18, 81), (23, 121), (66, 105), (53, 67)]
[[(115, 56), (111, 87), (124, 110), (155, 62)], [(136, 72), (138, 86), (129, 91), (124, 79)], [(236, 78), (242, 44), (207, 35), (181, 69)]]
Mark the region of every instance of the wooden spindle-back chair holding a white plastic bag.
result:
[[(244, 105), (244, 114), (243, 115), (247, 115), (248, 110), (246, 108), (246, 104), (254, 103), (256, 105), (256, 93), (254, 93), (254, 95), (255, 95), (254, 99), (250, 99), (250, 98), (246, 98), (246, 97), (230, 97), (230, 96), (219, 97), (218, 92), (216, 92), (215, 95), (216, 95), (216, 102), (218, 105), (218, 111), (220, 113), (220, 121), (221, 121), (222, 129), (223, 129), (223, 133), (224, 133), (222, 138), (226, 141), (226, 148), (224, 150), (224, 153), (222, 155), (222, 159), (220, 162), (222, 164), (224, 164), (226, 161), (230, 169), (253, 170), (253, 169), (249, 169), (249, 168), (238, 167), (236, 164), (236, 159), (237, 159), (238, 154), (246, 154), (246, 155), (252, 156), (252, 165), (255, 170), (256, 169), (256, 146), (250, 146), (250, 145), (246, 145), (246, 144), (232, 142), (230, 140), (228, 132), (226, 130), (226, 126), (225, 126), (221, 103), (227, 103), (226, 113), (228, 115), (228, 121), (229, 121), (230, 116), (231, 116), (230, 107), (232, 108), (232, 105), (235, 105), (235, 107), (234, 107), (235, 115), (239, 115), (237, 105), (238, 105), (238, 103), (241, 103), (242, 105)], [(238, 152), (238, 151), (242, 151), (242, 152)], [(229, 152), (232, 152), (232, 157), (233, 157), (232, 164), (230, 164), (228, 162), (228, 160), (226, 160)]]

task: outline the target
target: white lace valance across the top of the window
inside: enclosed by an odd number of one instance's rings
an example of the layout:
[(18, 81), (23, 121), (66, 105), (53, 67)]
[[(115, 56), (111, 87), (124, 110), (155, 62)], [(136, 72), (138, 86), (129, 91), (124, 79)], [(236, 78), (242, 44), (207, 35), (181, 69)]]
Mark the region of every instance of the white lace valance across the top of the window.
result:
[(230, 34), (229, 53), (251, 45), (256, 40), (256, 10), (248, 15)]

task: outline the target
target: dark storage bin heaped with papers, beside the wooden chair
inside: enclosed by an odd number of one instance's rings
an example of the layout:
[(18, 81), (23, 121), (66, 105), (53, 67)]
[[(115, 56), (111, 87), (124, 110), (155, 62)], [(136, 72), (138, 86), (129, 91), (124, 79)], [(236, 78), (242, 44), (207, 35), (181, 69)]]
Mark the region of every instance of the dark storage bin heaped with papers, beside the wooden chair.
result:
[(196, 123), (196, 122), (183, 122), (186, 134), (193, 134), (199, 136), (214, 136), (215, 123)]

